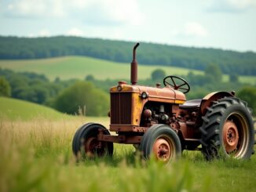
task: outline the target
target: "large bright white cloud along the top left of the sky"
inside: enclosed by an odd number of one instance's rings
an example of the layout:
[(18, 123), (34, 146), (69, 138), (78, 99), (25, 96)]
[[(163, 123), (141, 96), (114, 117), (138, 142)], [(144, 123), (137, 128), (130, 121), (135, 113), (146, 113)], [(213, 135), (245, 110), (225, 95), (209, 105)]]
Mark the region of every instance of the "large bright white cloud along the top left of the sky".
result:
[(63, 18), (86, 24), (141, 24), (137, 0), (13, 0), (5, 15), (31, 18)]

